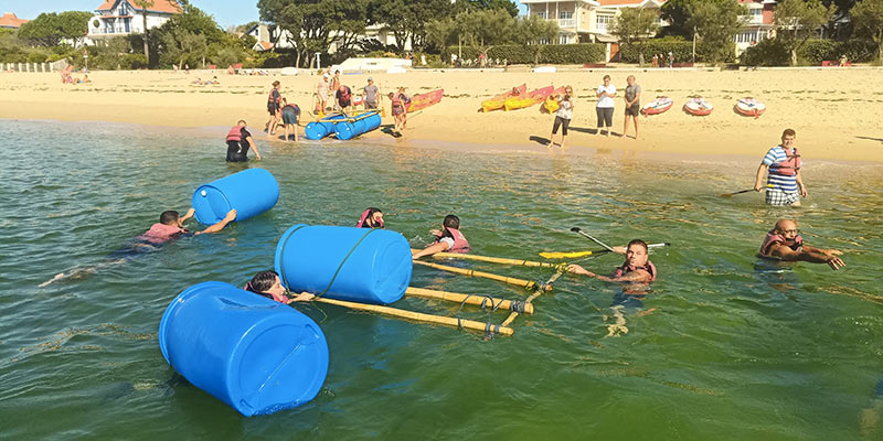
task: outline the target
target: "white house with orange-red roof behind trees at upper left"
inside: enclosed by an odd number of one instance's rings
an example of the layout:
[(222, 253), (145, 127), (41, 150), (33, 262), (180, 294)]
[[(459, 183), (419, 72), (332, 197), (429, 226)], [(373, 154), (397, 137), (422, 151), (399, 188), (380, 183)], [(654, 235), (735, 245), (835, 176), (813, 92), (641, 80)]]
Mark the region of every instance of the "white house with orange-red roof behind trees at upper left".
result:
[(145, 15), (147, 29), (153, 29), (181, 12), (181, 6), (175, 0), (153, 0), (153, 4), (147, 8), (135, 4), (132, 0), (104, 0), (95, 10), (95, 17), (89, 19), (87, 36), (100, 39), (140, 34), (145, 32)]

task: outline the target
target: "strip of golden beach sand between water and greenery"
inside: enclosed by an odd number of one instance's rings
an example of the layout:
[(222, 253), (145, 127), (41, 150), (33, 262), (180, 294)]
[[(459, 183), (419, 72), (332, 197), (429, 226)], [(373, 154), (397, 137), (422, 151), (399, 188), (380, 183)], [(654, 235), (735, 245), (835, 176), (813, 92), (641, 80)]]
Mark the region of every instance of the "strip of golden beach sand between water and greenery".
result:
[[(641, 104), (656, 96), (669, 96), (674, 106), (662, 115), (640, 117), (640, 139), (593, 135), (595, 88), (609, 74), (620, 89), (634, 74), (643, 88)], [(217, 75), (221, 85), (199, 86), (191, 82)], [(82, 74), (74, 75), (82, 77)], [(353, 89), (365, 84), (369, 74), (342, 75)], [(404, 138), (409, 141), (454, 144), (496, 144), (545, 149), (553, 117), (539, 106), (514, 111), (478, 112), (480, 103), (512, 86), (529, 89), (549, 84), (572, 85), (577, 96), (567, 150), (609, 149), (687, 154), (736, 154), (757, 157), (775, 146), (785, 128), (797, 131), (797, 146), (806, 160), (837, 159), (883, 161), (883, 71), (874, 68), (772, 69), (772, 71), (667, 71), (667, 69), (573, 69), (556, 74), (480, 71), (413, 71), (407, 74), (371, 74), (382, 93), (398, 86), (411, 95), (436, 88), (445, 98), (436, 106), (412, 115)], [(270, 83), (281, 82), (283, 96), (312, 118), (317, 76), (230, 76), (223, 71), (94, 72), (91, 84), (62, 84), (57, 73), (0, 74), (0, 118), (57, 119), (65, 121), (115, 121), (151, 126), (222, 127), (246, 119), (258, 141), (267, 120), (266, 100)], [(688, 97), (701, 95), (714, 106), (708, 117), (685, 114)], [(736, 99), (755, 97), (767, 111), (758, 119), (733, 111)], [(391, 125), (385, 100), (384, 125)], [(620, 133), (624, 101), (616, 99), (614, 133)], [(302, 129), (301, 129), (302, 130)], [(634, 135), (634, 131), (629, 131)], [(392, 140), (375, 130), (369, 139)], [(556, 138), (557, 139), (557, 138)], [(221, 141), (219, 141), (221, 142)], [(456, 148), (456, 147), (455, 147)]]

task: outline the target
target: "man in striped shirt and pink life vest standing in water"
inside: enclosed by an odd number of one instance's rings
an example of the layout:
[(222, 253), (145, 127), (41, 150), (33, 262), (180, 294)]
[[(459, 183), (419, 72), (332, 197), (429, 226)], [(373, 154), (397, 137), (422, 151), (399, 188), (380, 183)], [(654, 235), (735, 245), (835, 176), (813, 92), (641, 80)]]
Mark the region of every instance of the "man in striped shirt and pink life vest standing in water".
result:
[(764, 189), (762, 184), (764, 172), (769, 170), (766, 186), (766, 203), (768, 205), (790, 205), (800, 206), (800, 197), (807, 197), (807, 187), (804, 185), (804, 178), (800, 174), (800, 153), (795, 147), (797, 135), (794, 129), (785, 129), (781, 132), (781, 143), (769, 149), (754, 179), (754, 190), (759, 192)]

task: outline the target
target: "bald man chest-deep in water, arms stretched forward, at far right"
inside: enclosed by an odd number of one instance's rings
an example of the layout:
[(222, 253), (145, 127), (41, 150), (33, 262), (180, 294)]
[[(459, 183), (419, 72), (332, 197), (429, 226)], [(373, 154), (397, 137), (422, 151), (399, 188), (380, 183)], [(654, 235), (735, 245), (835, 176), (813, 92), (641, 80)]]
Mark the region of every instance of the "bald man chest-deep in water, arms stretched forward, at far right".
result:
[(838, 257), (842, 255), (843, 252), (837, 249), (821, 249), (804, 244), (800, 230), (797, 229), (797, 222), (792, 219), (777, 222), (776, 226), (766, 234), (759, 252), (760, 257), (768, 259), (828, 263), (831, 269), (842, 268), (847, 265)]

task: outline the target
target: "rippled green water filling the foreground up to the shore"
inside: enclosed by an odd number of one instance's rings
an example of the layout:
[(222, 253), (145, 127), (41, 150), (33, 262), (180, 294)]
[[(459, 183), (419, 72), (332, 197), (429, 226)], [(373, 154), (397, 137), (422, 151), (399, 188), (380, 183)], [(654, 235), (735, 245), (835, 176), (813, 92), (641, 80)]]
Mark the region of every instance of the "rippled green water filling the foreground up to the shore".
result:
[[(883, 421), (872, 423), (883, 419), (874, 396), (883, 379), (881, 165), (806, 158), (811, 197), (795, 209), (768, 208), (754, 193), (716, 196), (751, 185), (765, 146), (758, 158), (667, 161), (592, 149), (262, 144), (266, 158), (251, 166), (273, 172), (281, 189), (270, 212), (106, 265), (160, 212), (187, 209), (198, 185), (241, 170), (223, 162), (223, 133), (10, 120), (0, 133), (0, 438), (883, 439)], [(617, 288), (566, 276), (534, 302), (535, 315), (514, 322), (514, 336), (491, 341), (299, 306), (328, 337), (328, 378), (315, 400), (273, 416), (243, 418), (174, 375), (157, 327), (179, 292), (206, 280), (243, 284), (273, 266), (288, 226), (351, 225), (369, 205), (413, 246), (448, 213), (480, 255), (597, 248), (572, 226), (617, 245), (641, 237), (673, 246), (651, 255), (660, 280), (642, 309), (625, 311), (629, 332), (618, 337), (606, 337)], [(780, 216), (797, 217), (809, 244), (842, 249), (847, 268), (758, 267), (754, 254)], [(581, 263), (607, 272), (620, 259)], [(422, 267), (412, 286), (526, 295)], [(487, 320), (475, 308), (462, 316)]]

